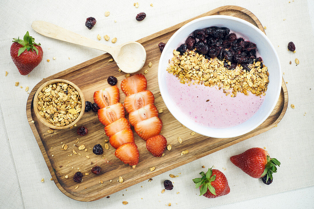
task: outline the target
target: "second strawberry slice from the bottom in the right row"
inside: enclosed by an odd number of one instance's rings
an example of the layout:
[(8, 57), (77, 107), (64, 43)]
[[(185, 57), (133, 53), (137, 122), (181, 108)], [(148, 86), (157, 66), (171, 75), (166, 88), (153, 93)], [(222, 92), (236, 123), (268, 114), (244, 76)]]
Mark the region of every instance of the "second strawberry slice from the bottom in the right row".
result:
[(147, 139), (158, 135), (161, 131), (161, 127), (162, 121), (157, 117), (153, 117), (136, 123), (134, 130), (146, 141)]

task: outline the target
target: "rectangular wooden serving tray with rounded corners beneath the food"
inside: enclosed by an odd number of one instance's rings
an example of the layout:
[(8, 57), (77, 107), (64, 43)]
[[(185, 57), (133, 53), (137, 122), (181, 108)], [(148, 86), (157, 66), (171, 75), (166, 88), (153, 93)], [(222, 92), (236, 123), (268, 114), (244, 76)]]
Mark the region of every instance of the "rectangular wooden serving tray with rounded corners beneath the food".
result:
[[(171, 35), (181, 26), (196, 18), (208, 15), (230, 15), (242, 18), (254, 24), (264, 32), (262, 24), (256, 16), (247, 9), (238, 6), (223, 6), (138, 40), (139, 43), (143, 44), (147, 52), (146, 63), (143, 69), (138, 73), (143, 73), (145, 70), (149, 70), (149, 72), (145, 74), (148, 83), (147, 89), (153, 92), (157, 109), (164, 109), (164, 111), (159, 114), (159, 117), (164, 124), (162, 135), (167, 138), (167, 142), (172, 145), (172, 149), (171, 151), (166, 149), (163, 157), (154, 157), (147, 151), (145, 141), (133, 132), (140, 153), (139, 163), (136, 165), (135, 169), (132, 169), (132, 166), (124, 165), (124, 163), (115, 157), (115, 149), (111, 147), (109, 142), (109, 150), (104, 149), (104, 159), (102, 159), (102, 155), (93, 154), (92, 148), (95, 144), (101, 144), (102, 147), (105, 148), (105, 140), (108, 140), (108, 137), (104, 134), (104, 126), (98, 121), (96, 113), (92, 111), (85, 112), (83, 117), (78, 121), (78, 127), (84, 125), (88, 128), (89, 133), (86, 136), (79, 136), (76, 133), (77, 127), (73, 127), (72, 129), (55, 130), (55, 133), (57, 134), (49, 134), (47, 133), (48, 127), (44, 126), (35, 116), (32, 105), (36, 90), (44, 82), (51, 79), (65, 79), (72, 81), (83, 91), (85, 100), (91, 102), (93, 101), (94, 91), (109, 86), (107, 83), (108, 76), (115, 76), (118, 79), (117, 86), (120, 89), (120, 82), (125, 78), (125, 74), (118, 71), (118, 67), (114, 62), (107, 62), (111, 59), (109, 54), (100, 55), (94, 59), (49, 76), (40, 81), (33, 88), (26, 104), (27, 118), (51, 176), (60, 191), (70, 198), (79, 201), (98, 200), (143, 180), (147, 180), (153, 176), (263, 133), (279, 123), (284, 116), (288, 105), (288, 93), (284, 80), (282, 80), (279, 100), (271, 115), (255, 130), (239, 137), (208, 138), (198, 133), (192, 136), (192, 131), (182, 127), (181, 123), (179, 123), (167, 110), (165, 103), (159, 94), (160, 91), (157, 81), (157, 69), (160, 58), (158, 43), (167, 43)], [(148, 67), (149, 62), (152, 62), (151, 68)], [(121, 89), (120, 97), (120, 101), (123, 102), (125, 95)], [(34, 120), (35, 123), (32, 123), (32, 120)], [(178, 143), (178, 137), (183, 139), (182, 144)], [(78, 150), (78, 147), (73, 146), (73, 144), (76, 143), (77, 138), (79, 138), (77, 144), (84, 144), (87, 152)], [(62, 144), (67, 144), (68, 149), (60, 150)], [(73, 154), (73, 149), (81, 155)], [(189, 153), (181, 156), (180, 154), (183, 150), (189, 150)], [(68, 156), (71, 153), (72, 156)], [(88, 155), (90, 159), (86, 158), (86, 155)], [(91, 162), (93, 162), (92, 165)], [(100, 175), (91, 173), (91, 168), (95, 165), (99, 165), (102, 168)], [(153, 166), (156, 169), (150, 171), (149, 168)], [(83, 182), (80, 183), (73, 181), (73, 175), (78, 171), (78, 168), (80, 168), (83, 174), (89, 173), (89, 175), (83, 176)], [(65, 178), (65, 175), (68, 175), (68, 178)], [(123, 183), (117, 182), (119, 176), (122, 176)], [(99, 183), (100, 180), (103, 181), (102, 184)], [(112, 182), (110, 182), (110, 180), (112, 180)], [(79, 185), (79, 187), (74, 189), (77, 185)]]

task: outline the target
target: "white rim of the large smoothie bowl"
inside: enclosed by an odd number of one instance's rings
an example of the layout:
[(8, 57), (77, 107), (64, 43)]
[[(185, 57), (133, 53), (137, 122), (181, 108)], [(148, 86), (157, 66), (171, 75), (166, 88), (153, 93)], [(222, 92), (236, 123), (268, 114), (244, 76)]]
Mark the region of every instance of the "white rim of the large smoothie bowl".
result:
[[(171, 110), (171, 101), (169, 101), (168, 98), (166, 98), (165, 95), (167, 95), (167, 97), (169, 97), (169, 95), (166, 93), (166, 87), (163, 88), (163, 86), (161, 85), (162, 83), (162, 79), (163, 77), (161, 76), (162, 74), (162, 71), (165, 70), (165, 69), (161, 69), (161, 65), (162, 65), (162, 61), (165, 60), (165, 53), (161, 53), (161, 56), (160, 56), (160, 60), (159, 60), (159, 63), (158, 63), (158, 85), (159, 85), (159, 89), (160, 89), (160, 94), (161, 94), (161, 97), (163, 99), (163, 101), (165, 102), (165, 105), (166, 107), (168, 108), (169, 112), (173, 115), (173, 117), (176, 118), (176, 120), (178, 120), (181, 124), (183, 124), (184, 126), (186, 126), (187, 128), (191, 129), (192, 131), (194, 132), (197, 132), (199, 134), (202, 134), (204, 136), (208, 136), (208, 137), (213, 137), (213, 138), (232, 138), (232, 137), (237, 137), (237, 136), (241, 136), (243, 134), (246, 134), (246, 133), (249, 133), (250, 131), (254, 130), (255, 128), (257, 128), (260, 124), (262, 124), (268, 117), (269, 115), (273, 112), (273, 109), (275, 108), (277, 102), (278, 102), (278, 99), (279, 99), (279, 95), (280, 95), (280, 91), (281, 91), (281, 86), (282, 86), (282, 76), (281, 76), (281, 65), (280, 65), (280, 61), (279, 61), (279, 56), (273, 46), (273, 44), (271, 43), (271, 41), (268, 39), (268, 37), (266, 36), (266, 34), (263, 33), (263, 31), (261, 31), (258, 27), (256, 27), (255, 25), (247, 22), (246, 20), (243, 20), (241, 18), (236, 18), (236, 17), (233, 17), (233, 16), (228, 16), (228, 15), (210, 15), (210, 16), (205, 16), (205, 17), (201, 17), (201, 18), (197, 18), (195, 20), (192, 20), (191, 22), (188, 22), (187, 24), (183, 25), (181, 28), (179, 28), (171, 37), (170, 39), (168, 40), (168, 42), (171, 42), (174, 37), (176, 36), (176, 34), (180, 33), (183, 29), (185, 29), (186, 27), (188, 27), (189, 25), (191, 24), (194, 24), (196, 22), (199, 22), (199, 21), (202, 21), (202, 20), (206, 20), (206, 19), (230, 19), (230, 20), (234, 20), (234, 21), (237, 21), (237, 22), (240, 22), (242, 24), (245, 24), (246, 26), (254, 29), (258, 34), (260, 34), (263, 39), (266, 40), (266, 42), (268, 43), (268, 45), (270, 46), (270, 49), (273, 50), (274, 52), (274, 55), (275, 55), (275, 60), (277, 62), (277, 65), (279, 67), (279, 80), (277, 81), (278, 83), (278, 86), (279, 88), (277, 89), (277, 93), (276, 93), (276, 97), (275, 97), (275, 100), (271, 106), (271, 108), (269, 109), (269, 111), (267, 112), (267, 114), (265, 114), (265, 116), (258, 122), (256, 123), (255, 126), (253, 126), (252, 128), (248, 128), (248, 129), (243, 129), (243, 131), (239, 131), (239, 132), (228, 132), (226, 131), (225, 133), (221, 134), (221, 133), (215, 133), (214, 131), (211, 131), (208, 133), (207, 132), (204, 132), (204, 133), (200, 133), (200, 131), (196, 131), (194, 130), (194, 126), (192, 125), (191, 127), (191, 124), (190, 122), (188, 122), (188, 120), (183, 120), (182, 118), (178, 118), (176, 117), (176, 115), (173, 114), (173, 111)], [(168, 43), (167, 42), (167, 43)], [(169, 44), (168, 44), (169, 45)], [(167, 44), (165, 45), (165, 49), (167, 50)], [(164, 51), (165, 51), (164, 49)], [(169, 58), (168, 58), (169, 59)], [(274, 81), (276, 82), (276, 81)], [(170, 108), (169, 108), (170, 107)], [(184, 116), (186, 118), (186, 116)], [(201, 126), (200, 124), (198, 123), (195, 123), (193, 122), (194, 125), (196, 126)], [(242, 124), (242, 123), (240, 123)], [(236, 125), (237, 126), (237, 125)], [(234, 127), (234, 126), (233, 126)], [(229, 127), (227, 127), (229, 128)], [(223, 128), (221, 128), (223, 129)]]

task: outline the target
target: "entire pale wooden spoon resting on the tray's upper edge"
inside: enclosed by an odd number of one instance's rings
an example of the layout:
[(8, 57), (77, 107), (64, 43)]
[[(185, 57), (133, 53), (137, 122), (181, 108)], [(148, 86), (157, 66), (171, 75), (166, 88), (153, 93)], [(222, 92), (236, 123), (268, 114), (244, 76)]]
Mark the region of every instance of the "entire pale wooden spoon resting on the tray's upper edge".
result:
[(144, 47), (142, 44), (135, 41), (110, 47), (45, 21), (34, 21), (32, 28), (37, 33), (53, 39), (105, 51), (111, 54), (118, 67), (125, 73), (135, 73), (139, 71), (146, 60)]

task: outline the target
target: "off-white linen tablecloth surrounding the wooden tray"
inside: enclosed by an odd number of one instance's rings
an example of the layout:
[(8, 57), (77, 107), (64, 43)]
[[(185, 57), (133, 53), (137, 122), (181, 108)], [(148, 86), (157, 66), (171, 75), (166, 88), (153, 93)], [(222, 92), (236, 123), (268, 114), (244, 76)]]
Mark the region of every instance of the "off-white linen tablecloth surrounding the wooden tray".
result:
[[(138, 2), (139, 8), (133, 6), (133, 1), (122, 0), (82, 3), (74, 0), (0, 2), (0, 142), (3, 145), (0, 152), (0, 208), (161, 208), (169, 202), (174, 208), (205, 208), (314, 185), (314, 39), (306, 0), (291, 0), (291, 3), (288, 0), (243, 0), (241, 3), (236, 0)], [(154, 7), (150, 7), (150, 3)], [(32, 5), (32, 9), (29, 9), (29, 5)], [(267, 27), (266, 34), (278, 52), (283, 77), (288, 82), (289, 108), (278, 127), (158, 175), (151, 182), (143, 181), (133, 185), (127, 191), (111, 195), (109, 199), (79, 202), (63, 195), (50, 181), (51, 175), (28, 124), (25, 114), (28, 94), (25, 87), (29, 86), (31, 90), (42, 78), (101, 55), (102, 52), (36, 34), (30, 27), (32, 21), (48, 21), (94, 40), (97, 40), (97, 34), (108, 34), (110, 38), (117, 37), (116, 44), (121, 44), (223, 5), (247, 8)], [(104, 16), (107, 10), (110, 11), (109, 17)], [(142, 22), (135, 20), (139, 12), (147, 14)], [(92, 30), (84, 26), (86, 18), (90, 16), (97, 20)], [(42, 44), (44, 50), (43, 61), (30, 73), (30, 77), (19, 74), (9, 54), (12, 38), (23, 37), (27, 30)], [(290, 41), (296, 45), (295, 54), (287, 51)], [(113, 45), (103, 38), (100, 42)], [(300, 65), (295, 66), (295, 58), (300, 60)], [(47, 59), (51, 61), (48, 63)], [(8, 71), (7, 77), (4, 77), (5, 71)], [(14, 86), (16, 81), (23, 88)], [(295, 109), (290, 107), (291, 104), (295, 105)], [(272, 157), (280, 160), (282, 165), (278, 173), (274, 174), (271, 185), (264, 185), (261, 180), (249, 177), (230, 162), (231, 155), (251, 147), (266, 147)], [(230, 185), (230, 194), (215, 199), (197, 195), (199, 191), (195, 189), (192, 179), (205, 170), (201, 168), (202, 165), (206, 168), (215, 165), (216, 169), (224, 172)], [(178, 173), (181, 173), (180, 177), (171, 179), (174, 189), (161, 194), (162, 182), (170, 178), (169, 174)], [(45, 179), (44, 183), (41, 178)], [(129, 203), (122, 205), (122, 201)]]

